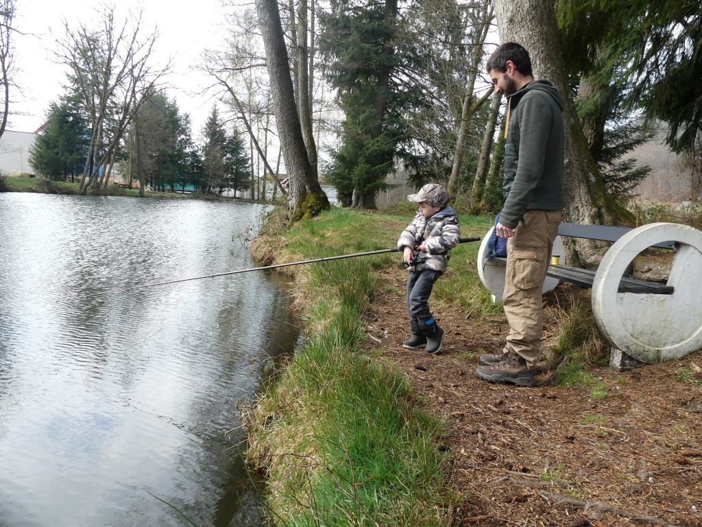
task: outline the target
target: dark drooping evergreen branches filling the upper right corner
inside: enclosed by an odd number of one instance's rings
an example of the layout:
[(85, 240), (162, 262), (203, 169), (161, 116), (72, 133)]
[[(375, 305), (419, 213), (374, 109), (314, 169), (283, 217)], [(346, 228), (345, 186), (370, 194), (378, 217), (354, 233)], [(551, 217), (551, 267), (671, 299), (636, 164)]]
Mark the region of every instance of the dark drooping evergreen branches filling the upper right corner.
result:
[(559, 0), (556, 7), (571, 74), (600, 72), (602, 89), (623, 91), (625, 107), (668, 123), (670, 148), (693, 148), (702, 126), (700, 2)]

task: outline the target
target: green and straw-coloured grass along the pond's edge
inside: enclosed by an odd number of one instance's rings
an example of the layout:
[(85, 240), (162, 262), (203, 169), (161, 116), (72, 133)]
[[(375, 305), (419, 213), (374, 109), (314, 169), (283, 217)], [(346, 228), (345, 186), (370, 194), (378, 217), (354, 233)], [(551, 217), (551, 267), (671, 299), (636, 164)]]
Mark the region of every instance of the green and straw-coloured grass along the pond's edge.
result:
[[(388, 213), (394, 214), (333, 209), (259, 239), (253, 251), (279, 263), (393, 247), (412, 211)], [(462, 217), (463, 235), (484, 232), (489, 223)], [(474, 259), (476, 251), (475, 243), (463, 245), (453, 258)], [(399, 370), (360, 351), (369, 299), (397, 295), (374, 271), (397, 265), (392, 254), (295, 270), (308, 338), (247, 417), (247, 456), (267, 473), (267, 504), (279, 525), (451, 524), (443, 424), (418, 410)], [(465, 282), (475, 282), (477, 273), (454, 267), (432, 299), (461, 306)]]

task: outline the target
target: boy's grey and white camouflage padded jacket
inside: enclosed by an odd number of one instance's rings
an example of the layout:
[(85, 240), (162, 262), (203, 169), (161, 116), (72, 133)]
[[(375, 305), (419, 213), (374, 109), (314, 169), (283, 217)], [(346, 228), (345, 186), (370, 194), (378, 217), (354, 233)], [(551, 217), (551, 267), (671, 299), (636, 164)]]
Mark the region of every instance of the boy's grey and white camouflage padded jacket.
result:
[(404, 247), (409, 247), (416, 252), (416, 247), (423, 243), (427, 252), (418, 253), (408, 270), (432, 269), (444, 273), (446, 263), (449, 263), (451, 258), (451, 249), (458, 245), (460, 239), (461, 228), (458, 226), (458, 216), (451, 207), (444, 207), (428, 219), (418, 212), (399, 235), (397, 249), (402, 251)]

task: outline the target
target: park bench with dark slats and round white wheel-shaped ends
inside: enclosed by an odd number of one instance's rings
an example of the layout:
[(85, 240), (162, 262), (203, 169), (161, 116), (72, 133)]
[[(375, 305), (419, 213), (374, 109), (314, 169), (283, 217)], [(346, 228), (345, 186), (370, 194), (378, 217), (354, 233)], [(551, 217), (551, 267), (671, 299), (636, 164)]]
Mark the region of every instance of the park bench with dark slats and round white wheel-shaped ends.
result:
[[(501, 301), (506, 259), (486, 259), (491, 233), (478, 251), (478, 274), (494, 301)], [(549, 292), (561, 281), (592, 288), (595, 322), (614, 346), (612, 365), (621, 368), (626, 356), (656, 363), (702, 349), (702, 231), (676, 223), (633, 229), (562, 223), (553, 254), (563, 257), (565, 236), (613, 242), (595, 271), (550, 265), (542, 289)], [(665, 284), (625, 276), (650, 247), (675, 251)]]

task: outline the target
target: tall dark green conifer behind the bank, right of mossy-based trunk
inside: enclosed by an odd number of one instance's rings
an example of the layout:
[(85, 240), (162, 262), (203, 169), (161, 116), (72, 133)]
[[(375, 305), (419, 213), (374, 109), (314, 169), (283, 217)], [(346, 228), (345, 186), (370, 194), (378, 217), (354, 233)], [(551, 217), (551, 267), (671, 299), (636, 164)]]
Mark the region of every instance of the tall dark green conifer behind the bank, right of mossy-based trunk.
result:
[[(344, 112), (342, 145), (333, 157), (328, 178), (343, 204), (375, 207), (395, 157), (417, 166), (404, 116), (421, 100), (420, 87), (400, 75), (416, 58), (398, 20), (397, 0), (331, 2), (320, 15), (324, 54), (331, 86)], [(402, 53), (399, 52), (402, 50)]]

